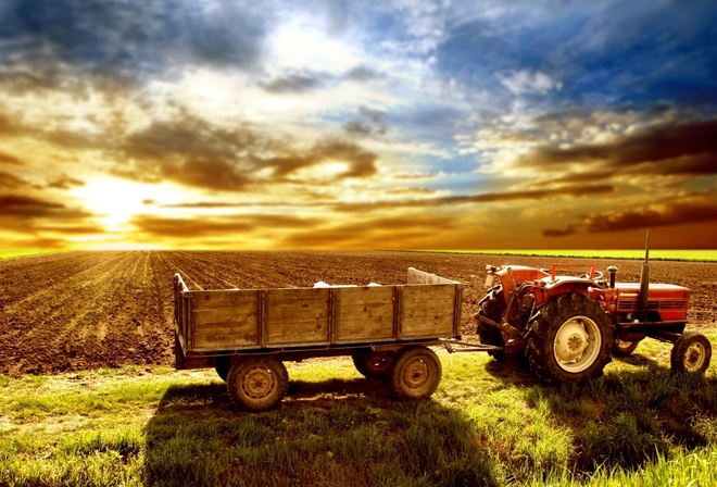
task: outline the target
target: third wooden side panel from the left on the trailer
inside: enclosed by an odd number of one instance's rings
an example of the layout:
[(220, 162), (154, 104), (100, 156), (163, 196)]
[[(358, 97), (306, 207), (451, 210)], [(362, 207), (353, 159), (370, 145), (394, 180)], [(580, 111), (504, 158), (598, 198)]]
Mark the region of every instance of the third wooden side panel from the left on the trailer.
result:
[(334, 289), (336, 341), (393, 337), (393, 286)]

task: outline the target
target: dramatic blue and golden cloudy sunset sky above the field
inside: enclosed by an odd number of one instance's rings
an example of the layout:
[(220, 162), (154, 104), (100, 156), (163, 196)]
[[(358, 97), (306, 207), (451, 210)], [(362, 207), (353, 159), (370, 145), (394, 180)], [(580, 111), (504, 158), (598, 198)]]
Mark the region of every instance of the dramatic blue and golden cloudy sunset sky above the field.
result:
[(717, 2), (2, 0), (0, 249), (717, 249)]

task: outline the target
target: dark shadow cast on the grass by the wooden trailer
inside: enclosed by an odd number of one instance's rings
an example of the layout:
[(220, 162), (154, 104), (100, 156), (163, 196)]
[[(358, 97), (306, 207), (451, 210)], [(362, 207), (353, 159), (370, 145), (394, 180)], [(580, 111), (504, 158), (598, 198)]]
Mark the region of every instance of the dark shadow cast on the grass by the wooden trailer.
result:
[(223, 383), (167, 389), (148, 422), (147, 485), (498, 485), (471, 422), (433, 400), (390, 399), (378, 379), (292, 380), (262, 413)]

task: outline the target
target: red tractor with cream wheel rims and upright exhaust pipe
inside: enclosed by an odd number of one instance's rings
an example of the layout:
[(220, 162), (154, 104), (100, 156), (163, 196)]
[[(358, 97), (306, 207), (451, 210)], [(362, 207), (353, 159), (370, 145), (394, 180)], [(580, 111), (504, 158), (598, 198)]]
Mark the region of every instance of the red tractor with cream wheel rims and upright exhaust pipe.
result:
[(651, 337), (674, 344), (674, 371), (703, 374), (709, 366), (707, 337), (684, 330), (690, 289), (650, 284), (647, 251), (639, 284), (616, 283), (614, 266), (606, 280), (594, 266), (579, 277), (556, 269), (487, 266), (487, 285), (495, 285), (476, 319), (480, 341), (500, 347), (489, 351), (493, 358), (523, 353), (538, 377), (580, 383), (600, 375), (611, 353), (627, 355)]

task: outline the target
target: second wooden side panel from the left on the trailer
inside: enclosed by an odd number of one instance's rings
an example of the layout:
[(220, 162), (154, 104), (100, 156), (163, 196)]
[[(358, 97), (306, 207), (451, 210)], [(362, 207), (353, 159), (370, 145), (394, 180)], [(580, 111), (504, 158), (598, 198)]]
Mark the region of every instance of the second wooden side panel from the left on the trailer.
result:
[(329, 341), (329, 289), (266, 291), (267, 346)]

